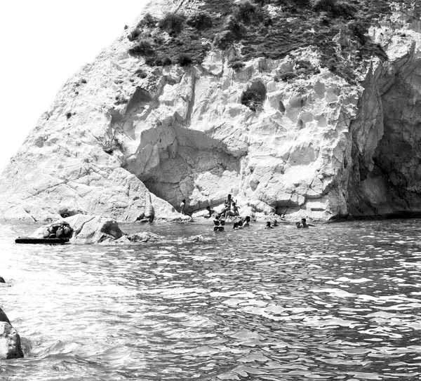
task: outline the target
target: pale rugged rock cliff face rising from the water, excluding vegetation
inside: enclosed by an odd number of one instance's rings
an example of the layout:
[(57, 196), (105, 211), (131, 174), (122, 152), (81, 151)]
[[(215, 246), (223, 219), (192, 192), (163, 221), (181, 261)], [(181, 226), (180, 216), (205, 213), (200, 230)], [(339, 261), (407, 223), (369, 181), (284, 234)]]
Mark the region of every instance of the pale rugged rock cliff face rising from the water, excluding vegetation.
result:
[[(221, 50), (223, 33), (199, 41), (200, 60), (151, 62), (138, 35), (158, 49), (173, 39), (166, 13), (203, 6), (153, 1), (41, 116), (1, 176), (0, 218), (180, 218), (182, 199), (192, 212), (227, 193), (291, 219), (421, 211), (420, 7), (398, 3), (368, 31), (388, 59), (360, 60), (352, 80), (321, 65), (320, 46), (253, 57), (235, 39)], [(328, 43), (356, 60), (353, 36)]]

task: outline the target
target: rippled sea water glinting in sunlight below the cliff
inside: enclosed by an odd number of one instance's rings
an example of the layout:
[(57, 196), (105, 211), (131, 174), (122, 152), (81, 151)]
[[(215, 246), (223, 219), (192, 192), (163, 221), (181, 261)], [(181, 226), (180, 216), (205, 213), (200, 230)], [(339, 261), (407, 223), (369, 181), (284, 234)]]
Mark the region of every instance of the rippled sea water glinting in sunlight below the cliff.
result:
[(119, 247), (17, 245), (37, 226), (0, 225), (25, 351), (0, 380), (420, 380), (420, 222), (123, 225), (167, 241)]

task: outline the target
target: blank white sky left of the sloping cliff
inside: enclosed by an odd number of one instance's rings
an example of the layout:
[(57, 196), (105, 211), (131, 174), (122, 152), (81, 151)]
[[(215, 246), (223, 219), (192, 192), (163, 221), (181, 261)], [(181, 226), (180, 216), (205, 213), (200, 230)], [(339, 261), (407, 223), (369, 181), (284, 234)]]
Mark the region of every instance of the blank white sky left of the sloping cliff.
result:
[(131, 26), (149, 0), (4, 0), (0, 173), (65, 81)]

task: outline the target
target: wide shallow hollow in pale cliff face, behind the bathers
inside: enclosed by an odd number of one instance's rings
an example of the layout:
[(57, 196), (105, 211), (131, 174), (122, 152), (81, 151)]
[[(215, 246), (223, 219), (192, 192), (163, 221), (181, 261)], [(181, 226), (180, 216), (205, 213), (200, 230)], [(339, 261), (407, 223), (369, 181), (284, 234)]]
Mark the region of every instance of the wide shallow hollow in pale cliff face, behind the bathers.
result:
[(143, 171), (139, 171), (138, 157), (126, 162), (125, 169), (136, 175), (149, 192), (176, 209), (186, 199), (189, 212), (215, 206), (228, 193), (238, 193), (241, 156), (245, 153), (234, 156), (222, 140), (180, 123), (161, 132), (168, 136), (169, 131), (174, 137), (172, 144), (158, 140)]

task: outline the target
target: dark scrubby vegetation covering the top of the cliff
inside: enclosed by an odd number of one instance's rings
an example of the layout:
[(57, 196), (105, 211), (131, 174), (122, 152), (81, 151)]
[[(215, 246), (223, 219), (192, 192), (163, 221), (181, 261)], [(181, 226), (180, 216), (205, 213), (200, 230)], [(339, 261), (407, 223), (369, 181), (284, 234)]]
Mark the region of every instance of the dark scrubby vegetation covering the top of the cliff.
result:
[[(410, 0), (203, 0), (189, 14), (166, 13), (157, 20), (147, 14), (128, 34), (129, 53), (146, 58), (147, 65), (200, 64), (213, 46), (241, 46), (241, 61), (283, 58), (297, 48), (316, 46), (321, 65), (352, 80), (355, 65), (376, 55), (387, 60), (367, 36), (376, 20), (391, 6), (409, 8)], [(339, 32), (351, 41), (338, 53), (333, 37)], [(345, 58), (346, 57), (346, 58)], [(349, 58), (352, 58), (351, 60)]]

